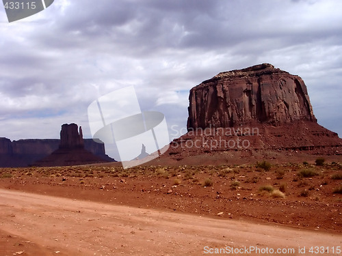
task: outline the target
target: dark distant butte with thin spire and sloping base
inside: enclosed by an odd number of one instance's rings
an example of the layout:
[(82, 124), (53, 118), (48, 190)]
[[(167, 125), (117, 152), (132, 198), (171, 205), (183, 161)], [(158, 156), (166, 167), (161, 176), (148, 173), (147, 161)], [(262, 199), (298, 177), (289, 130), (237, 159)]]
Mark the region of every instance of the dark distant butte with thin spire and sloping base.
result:
[(34, 166), (86, 165), (99, 162), (113, 162), (114, 159), (101, 158), (84, 148), (81, 126), (63, 124), (60, 132), (60, 146), (49, 156), (34, 162)]

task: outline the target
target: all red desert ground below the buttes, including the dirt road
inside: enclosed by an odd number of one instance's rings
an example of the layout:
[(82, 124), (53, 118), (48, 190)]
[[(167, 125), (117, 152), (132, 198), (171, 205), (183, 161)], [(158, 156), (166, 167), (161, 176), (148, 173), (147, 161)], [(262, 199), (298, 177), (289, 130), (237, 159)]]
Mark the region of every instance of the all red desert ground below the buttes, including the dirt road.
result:
[(0, 255), (341, 255), (341, 180), (328, 161), (0, 169)]

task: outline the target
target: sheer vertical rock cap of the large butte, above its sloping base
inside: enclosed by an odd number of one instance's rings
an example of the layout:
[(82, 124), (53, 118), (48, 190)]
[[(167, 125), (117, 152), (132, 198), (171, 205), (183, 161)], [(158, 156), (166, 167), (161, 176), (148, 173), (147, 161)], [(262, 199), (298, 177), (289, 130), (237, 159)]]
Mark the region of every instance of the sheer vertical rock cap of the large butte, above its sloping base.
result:
[(221, 72), (190, 90), (188, 130), (317, 122), (304, 81), (269, 63)]

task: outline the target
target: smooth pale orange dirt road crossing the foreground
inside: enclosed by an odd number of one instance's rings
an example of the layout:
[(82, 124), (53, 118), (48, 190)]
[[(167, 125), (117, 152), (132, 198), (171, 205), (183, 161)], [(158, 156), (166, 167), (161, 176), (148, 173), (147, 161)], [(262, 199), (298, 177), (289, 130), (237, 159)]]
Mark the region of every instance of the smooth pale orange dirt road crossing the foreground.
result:
[(337, 233), (280, 225), (3, 189), (0, 209), (0, 255), (342, 255)]

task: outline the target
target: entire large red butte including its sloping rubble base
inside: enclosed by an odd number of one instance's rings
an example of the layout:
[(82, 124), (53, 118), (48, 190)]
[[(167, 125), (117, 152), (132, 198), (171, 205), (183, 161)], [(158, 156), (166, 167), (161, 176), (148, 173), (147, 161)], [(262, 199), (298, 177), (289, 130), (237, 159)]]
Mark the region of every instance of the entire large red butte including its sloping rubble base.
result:
[(190, 90), (188, 111), (187, 134), (162, 157), (196, 163), (209, 155), (218, 162), (298, 152), (342, 155), (342, 139), (317, 124), (304, 81), (271, 64), (200, 83)]

